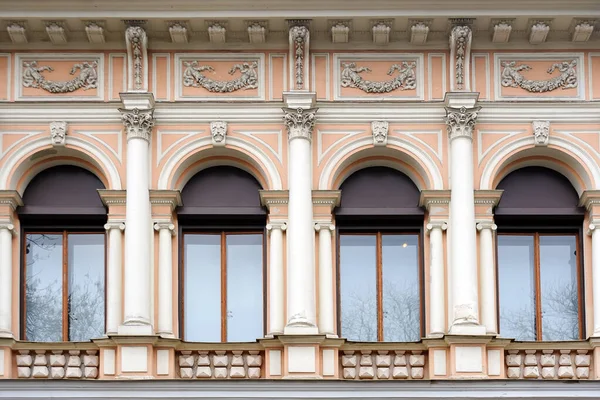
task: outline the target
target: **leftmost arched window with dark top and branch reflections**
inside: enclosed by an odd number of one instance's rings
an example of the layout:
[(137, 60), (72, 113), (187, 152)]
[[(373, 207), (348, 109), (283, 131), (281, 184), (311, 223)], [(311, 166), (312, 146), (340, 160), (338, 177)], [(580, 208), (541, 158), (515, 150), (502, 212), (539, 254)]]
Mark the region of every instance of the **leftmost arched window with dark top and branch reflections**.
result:
[(18, 210), (23, 229), (22, 338), (87, 341), (105, 324), (102, 182), (74, 166), (36, 175)]

